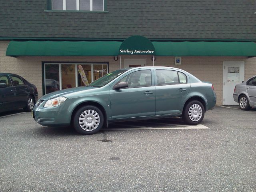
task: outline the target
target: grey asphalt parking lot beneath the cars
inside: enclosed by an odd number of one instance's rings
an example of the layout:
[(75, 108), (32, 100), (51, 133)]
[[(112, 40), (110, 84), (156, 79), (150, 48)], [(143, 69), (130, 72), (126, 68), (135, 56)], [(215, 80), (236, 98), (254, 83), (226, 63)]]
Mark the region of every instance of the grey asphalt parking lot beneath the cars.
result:
[(256, 191), (256, 109), (217, 106), (202, 124), (118, 122), (98, 134), (0, 114), (0, 191)]

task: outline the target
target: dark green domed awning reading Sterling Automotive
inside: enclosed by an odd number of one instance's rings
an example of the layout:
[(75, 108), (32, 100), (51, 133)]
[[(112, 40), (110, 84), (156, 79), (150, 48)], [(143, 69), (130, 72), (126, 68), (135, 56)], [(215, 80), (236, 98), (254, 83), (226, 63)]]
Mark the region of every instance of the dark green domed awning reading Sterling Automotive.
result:
[(131, 36), (119, 48), (120, 55), (155, 55), (154, 45), (143, 36)]

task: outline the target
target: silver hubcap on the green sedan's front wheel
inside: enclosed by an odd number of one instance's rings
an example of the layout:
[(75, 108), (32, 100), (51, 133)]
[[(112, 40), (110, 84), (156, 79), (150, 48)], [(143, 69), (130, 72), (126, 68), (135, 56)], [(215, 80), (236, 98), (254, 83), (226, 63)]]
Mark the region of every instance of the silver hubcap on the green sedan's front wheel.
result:
[(94, 110), (85, 110), (79, 117), (80, 127), (85, 131), (92, 131), (100, 124), (100, 116)]

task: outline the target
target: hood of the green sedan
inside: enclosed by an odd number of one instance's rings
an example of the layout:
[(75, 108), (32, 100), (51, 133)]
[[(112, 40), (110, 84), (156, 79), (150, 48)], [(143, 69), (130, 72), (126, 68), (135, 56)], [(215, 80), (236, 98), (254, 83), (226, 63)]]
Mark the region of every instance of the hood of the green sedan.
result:
[(89, 90), (92, 89), (97, 89), (97, 87), (76, 87), (76, 88), (68, 88), (60, 91), (55, 91), (49, 94), (46, 94), (40, 98), (40, 100), (49, 100), (51, 98), (55, 98), (58, 96), (64, 96), (67, 98), (70, 98), (72, 93), (77, 93), (77, 92), (88, 92)]

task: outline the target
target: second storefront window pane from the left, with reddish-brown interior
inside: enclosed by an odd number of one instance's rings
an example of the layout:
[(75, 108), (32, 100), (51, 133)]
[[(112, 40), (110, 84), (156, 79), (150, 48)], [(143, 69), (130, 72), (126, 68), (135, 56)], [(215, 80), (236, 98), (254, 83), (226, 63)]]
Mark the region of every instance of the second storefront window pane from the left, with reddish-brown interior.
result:
[(74, 64), (61, 65), (62, 89), (76, 87), (76, 70)]

